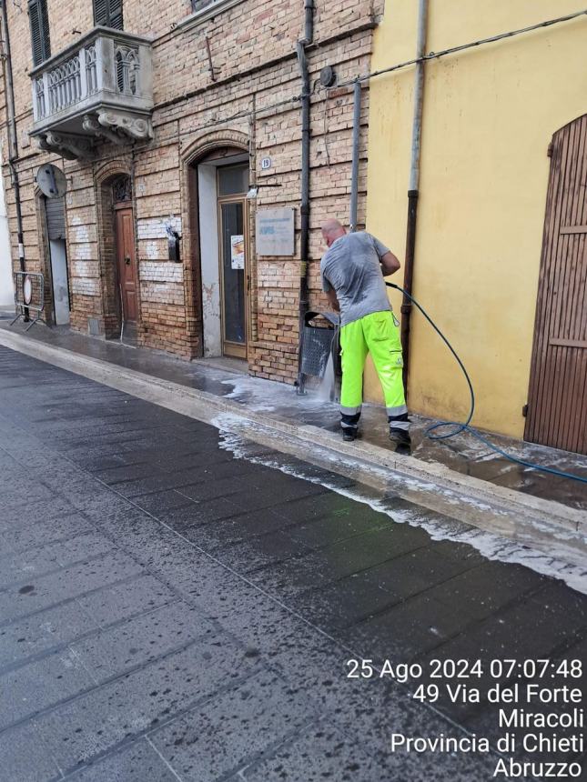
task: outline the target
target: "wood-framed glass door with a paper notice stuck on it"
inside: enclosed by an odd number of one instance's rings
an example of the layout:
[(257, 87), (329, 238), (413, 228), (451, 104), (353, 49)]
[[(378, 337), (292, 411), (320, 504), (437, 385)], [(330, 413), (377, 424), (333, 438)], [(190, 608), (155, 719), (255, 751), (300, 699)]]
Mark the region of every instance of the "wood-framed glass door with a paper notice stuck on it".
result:
[(247, 237), (246, 200), (219, 199), (222, 352), (247, 357)]

